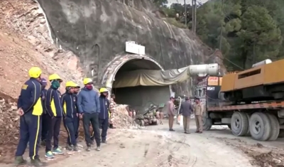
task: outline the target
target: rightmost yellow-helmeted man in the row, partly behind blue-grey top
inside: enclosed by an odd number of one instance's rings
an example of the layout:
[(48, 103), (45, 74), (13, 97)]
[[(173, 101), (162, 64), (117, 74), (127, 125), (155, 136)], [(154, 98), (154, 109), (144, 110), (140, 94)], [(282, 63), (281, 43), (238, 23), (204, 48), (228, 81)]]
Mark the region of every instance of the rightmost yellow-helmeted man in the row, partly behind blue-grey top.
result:
[(107, 144), (107, 128), (109, 127), (109, 91), (102, 87), (99, 92), (99, 104), (101, 107), (101, 112), (99, 112), (99, 126), (102, 127), (102, 143)]

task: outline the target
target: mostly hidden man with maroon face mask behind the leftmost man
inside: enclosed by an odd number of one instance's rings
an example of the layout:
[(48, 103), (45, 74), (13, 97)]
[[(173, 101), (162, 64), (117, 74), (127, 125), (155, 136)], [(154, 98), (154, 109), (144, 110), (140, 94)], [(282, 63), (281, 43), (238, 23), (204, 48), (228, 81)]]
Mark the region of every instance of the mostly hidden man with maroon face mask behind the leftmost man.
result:
[(46, 93), (48, 90), (45, 90), (46, 85), (48, 85), (48, 81), (45, 80), (45, 78), (41, 78), (41, 104), (43, 104), (43, 116), (42, 116), (42, 129), (41, 129), (41, 145), (45, 146), (45, 140), (46, 136), (48, 136), (48, 120), (49, 120), (49, 115), (46, 112), (45, 109), (45, 99), (46, 99)]

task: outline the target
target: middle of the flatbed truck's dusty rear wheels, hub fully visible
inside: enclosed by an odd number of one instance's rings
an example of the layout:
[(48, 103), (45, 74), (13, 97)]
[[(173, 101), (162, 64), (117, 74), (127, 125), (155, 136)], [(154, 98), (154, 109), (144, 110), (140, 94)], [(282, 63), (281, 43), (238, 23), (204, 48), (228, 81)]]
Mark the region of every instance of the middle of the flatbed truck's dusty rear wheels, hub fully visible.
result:
[(258, 141), (266, 141), (271, 136), (271, 122), (266, 114), (255, 112), (249, 119), (251, 137)]

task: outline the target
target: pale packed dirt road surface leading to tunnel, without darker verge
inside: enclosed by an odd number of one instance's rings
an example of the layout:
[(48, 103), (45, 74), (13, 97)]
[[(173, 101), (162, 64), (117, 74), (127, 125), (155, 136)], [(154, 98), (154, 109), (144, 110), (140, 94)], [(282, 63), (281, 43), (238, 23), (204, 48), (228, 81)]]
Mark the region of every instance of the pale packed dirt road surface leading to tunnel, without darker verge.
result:
[[(195, 131), (192, 126), (192, 132)], [(175, 132), (167, 125), (149, 126), (143, 130), (119, 130), (102, 151), (82, 151), (57, 166), (123, 167), (123, 166), (251, 166), (249, 158), (241, 151), (227, 146), (218, 139), (204, 134), (183, 134), (176, 126)], [(118, 129), (116, 129), (118, 131)]]

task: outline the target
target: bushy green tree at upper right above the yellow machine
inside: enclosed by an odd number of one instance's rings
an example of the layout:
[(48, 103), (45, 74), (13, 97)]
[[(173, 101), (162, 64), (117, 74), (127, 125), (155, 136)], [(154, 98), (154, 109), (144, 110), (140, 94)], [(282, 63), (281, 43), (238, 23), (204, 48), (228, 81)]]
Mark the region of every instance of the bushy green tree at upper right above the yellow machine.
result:
[(241, 16), (241, 31), (237, 35), (244, 42), (240, 46), (244, 68), (248, 60), (251, 64), (266, 58), (275, 60), (283, 41), (280, 28), (268, 10), (255, 5), (249, 6)]

